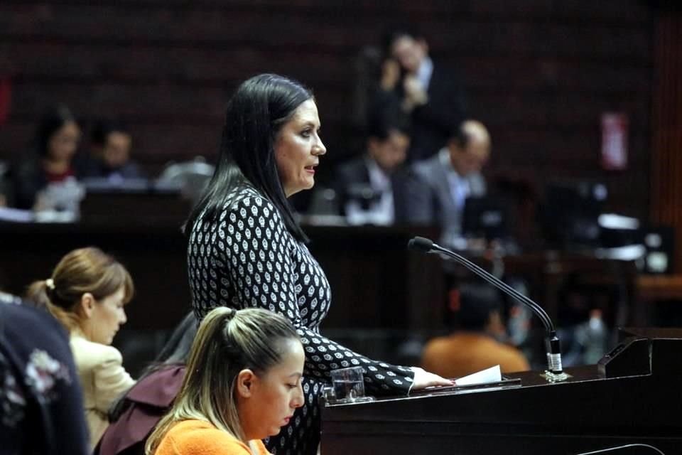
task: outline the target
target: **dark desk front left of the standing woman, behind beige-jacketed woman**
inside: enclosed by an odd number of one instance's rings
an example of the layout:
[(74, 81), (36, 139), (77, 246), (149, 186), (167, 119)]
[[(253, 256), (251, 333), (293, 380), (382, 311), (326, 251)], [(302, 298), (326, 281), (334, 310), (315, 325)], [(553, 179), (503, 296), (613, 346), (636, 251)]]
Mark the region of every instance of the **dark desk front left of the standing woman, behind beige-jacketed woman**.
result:
[(185, 240), (178, 225), (0, 223), (0, 287), (23, 294), (47, 279), (70, 250), (96, 246), (123, 263), (135, 296), (126, 306), (126, 328), (172, 328), (190, 308)]

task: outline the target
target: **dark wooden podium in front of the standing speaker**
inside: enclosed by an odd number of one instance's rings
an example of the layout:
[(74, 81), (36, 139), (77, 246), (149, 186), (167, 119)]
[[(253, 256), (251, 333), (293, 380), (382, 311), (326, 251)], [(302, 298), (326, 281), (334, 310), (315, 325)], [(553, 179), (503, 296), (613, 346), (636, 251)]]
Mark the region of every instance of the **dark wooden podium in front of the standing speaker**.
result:
[[(510, 385), (430, 392), (323, 408), (324, 455), (680, 453), (682, 329), (621, 331), (598, 365), (563, 382), (541, 372)], [(517, 380), (520, 379), (520, 384)], [(513, 385), (516, 382), (516, 385)]]

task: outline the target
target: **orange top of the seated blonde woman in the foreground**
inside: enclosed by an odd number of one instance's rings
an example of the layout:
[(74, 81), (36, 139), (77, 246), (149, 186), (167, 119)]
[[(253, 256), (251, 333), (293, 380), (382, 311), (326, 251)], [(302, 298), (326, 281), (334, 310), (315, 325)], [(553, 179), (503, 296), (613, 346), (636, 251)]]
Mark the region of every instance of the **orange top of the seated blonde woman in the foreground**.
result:
[[(262, 441), (251, 441), (256, 455), (269, 455)], [(154, 455), (254, 455), (247, 444), (201, 420), (179, 422), (166, 433)]]

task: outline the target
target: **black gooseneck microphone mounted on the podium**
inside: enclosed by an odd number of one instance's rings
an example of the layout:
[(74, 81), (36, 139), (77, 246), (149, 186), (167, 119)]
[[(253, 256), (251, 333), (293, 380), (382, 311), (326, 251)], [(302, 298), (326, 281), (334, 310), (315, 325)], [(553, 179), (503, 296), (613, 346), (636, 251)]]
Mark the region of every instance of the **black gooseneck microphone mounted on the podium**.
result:
[(556, 336), (556, 329), (554, 328), (554, 323), (550, 319), (547, 312), (541, 306), (536, 304), (528, 297), (524, 296), (524, 294), (521, 294), (519, 291), (516, 291), (516, 289), (509, 286), (509, 284), (502, 282), (501, 280), (494, 277), (492, 274), (486, 272), (481, 267), (478, 267), (469, 259), (463, 257), (462, 255), (458, 255), (457, 253), (450, 251), (447, 248), (441, 247), (440, 245), (433, 243), (432, 240), (429, 240), (424, 237), (414, 237), (412, 240), (408, 242), (407, 247), (410, 250), (415, 250), (427, 254), (438, 253), (441, 255), (445, 255), (449, 259), (453, 259), (455, 262), (458, 262), (458, 264), (463, 265), (466, 269), (470, 270), (470, 272), (474, 272), (482, 279), (485, 279), (486, 282), (492, 284), (494, 287), (504, 292), (504, 294), (507, 294), (508, 296), (511, 296), (517, 301), (520, 301), (522, 304), (528, 306), (531, 309), (531, 311), (533, 311), (534, 314), (536, 314), (540, 318), (540, 320), (543, 323), (543, 326), (545, 327), (545, 331), (547, 332), (545, 338), (545, 349), (547, 353), (548, 371), (546, 373), (548, 380), (558, 381), (568, 378), (568, 375), (563, 373), (563, 368), (561, 366), (561, 341), (559, 341), (558, 336)]

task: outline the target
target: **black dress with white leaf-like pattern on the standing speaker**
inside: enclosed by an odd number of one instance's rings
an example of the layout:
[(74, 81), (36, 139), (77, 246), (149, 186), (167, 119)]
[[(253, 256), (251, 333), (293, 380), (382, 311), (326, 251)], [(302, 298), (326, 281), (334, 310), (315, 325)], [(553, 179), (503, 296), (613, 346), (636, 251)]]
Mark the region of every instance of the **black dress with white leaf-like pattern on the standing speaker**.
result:
[(318, 396), (330, 370), (362, 365), (370, 395), (405, 395), (413, 373), (352, 352), (320, 335), (331, 291), (320, 264), (286, 230), (280, 213), (254, 188), (234, 191), (215, 220), (197, 219), (188, 267), (193, 306), (201, 319), (216, 306), (261, 307), (288, 317), (305, 348), (305, 405), (266, 441), (273, 454), (315, 454), (320, 439)]

